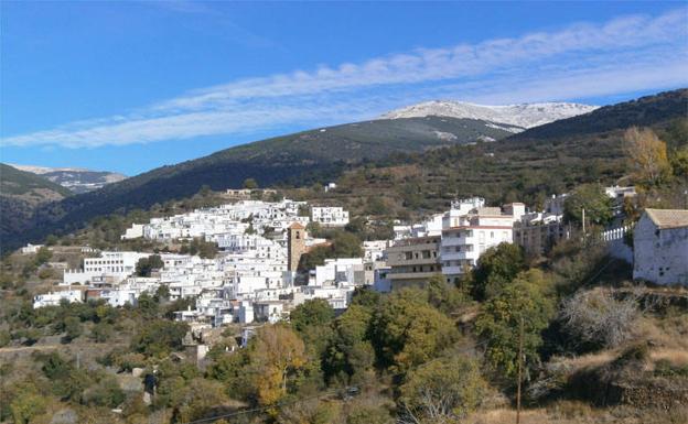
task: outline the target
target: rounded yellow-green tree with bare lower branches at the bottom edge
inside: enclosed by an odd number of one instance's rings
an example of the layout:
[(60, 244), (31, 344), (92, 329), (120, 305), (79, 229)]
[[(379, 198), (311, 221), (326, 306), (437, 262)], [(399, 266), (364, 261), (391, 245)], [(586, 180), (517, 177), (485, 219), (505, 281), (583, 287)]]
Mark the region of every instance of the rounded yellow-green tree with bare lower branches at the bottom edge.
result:
[(475, 410), (487, 384), (475, 360), (456, 355), (409, 372), (399, 389), (406, 422), (454, 423)]

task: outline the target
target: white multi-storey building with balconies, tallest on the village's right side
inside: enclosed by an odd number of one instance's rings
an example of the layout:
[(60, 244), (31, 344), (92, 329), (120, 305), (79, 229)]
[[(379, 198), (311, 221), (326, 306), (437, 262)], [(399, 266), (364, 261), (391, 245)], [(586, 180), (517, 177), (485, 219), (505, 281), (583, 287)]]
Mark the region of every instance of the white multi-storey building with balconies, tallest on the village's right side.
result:
[(525, 214), (525, 205), (515, 203), (485, 207), (481, 198), (459, 200), (444, 214), (440, 262), (448, 281), (461, 276), (477, 264), (479, 258), (499, 243), (512, 243), (514, 222)]

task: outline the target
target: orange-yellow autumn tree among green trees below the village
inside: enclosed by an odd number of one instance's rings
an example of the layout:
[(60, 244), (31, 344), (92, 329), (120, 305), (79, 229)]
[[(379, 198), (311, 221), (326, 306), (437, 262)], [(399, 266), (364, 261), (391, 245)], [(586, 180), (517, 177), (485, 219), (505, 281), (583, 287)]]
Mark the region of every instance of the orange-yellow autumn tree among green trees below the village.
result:
[(299, 336), (282, 325), (261, 327), (251, 339), (250, 362), (258, 402), (268, 405), (287, 394), (290, 376), (307, 363)]

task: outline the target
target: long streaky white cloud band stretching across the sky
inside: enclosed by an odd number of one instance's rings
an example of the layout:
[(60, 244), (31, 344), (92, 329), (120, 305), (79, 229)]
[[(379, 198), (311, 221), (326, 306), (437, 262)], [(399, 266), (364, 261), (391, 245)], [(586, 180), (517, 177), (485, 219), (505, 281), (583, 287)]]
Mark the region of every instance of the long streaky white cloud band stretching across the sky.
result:
[(250, 133), (363, 119), (429, 97), (499, 104), (671, 88), (688, 83), (687, 22), (681, 8), (241, 79), (3, 144), (79, 148)]

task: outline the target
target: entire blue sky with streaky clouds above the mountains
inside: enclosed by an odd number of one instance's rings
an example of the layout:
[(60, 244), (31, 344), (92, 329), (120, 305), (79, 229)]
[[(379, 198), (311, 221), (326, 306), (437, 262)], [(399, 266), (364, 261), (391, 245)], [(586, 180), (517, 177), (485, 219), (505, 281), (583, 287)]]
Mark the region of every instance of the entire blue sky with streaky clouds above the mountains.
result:
[(429, 99), (688, 86), (684, 2), (9, 2), (0, 160), (128, 175)]

